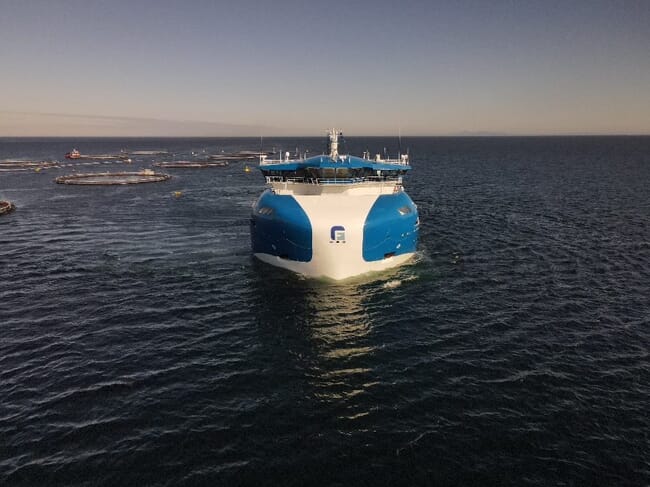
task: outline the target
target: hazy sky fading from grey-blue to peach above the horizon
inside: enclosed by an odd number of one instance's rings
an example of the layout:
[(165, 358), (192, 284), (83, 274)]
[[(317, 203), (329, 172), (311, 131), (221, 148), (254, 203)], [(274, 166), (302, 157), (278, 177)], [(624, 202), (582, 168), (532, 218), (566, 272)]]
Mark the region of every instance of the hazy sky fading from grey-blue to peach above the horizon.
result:
[(0, 136), (650, 134), (650, 1), (0, 0)]

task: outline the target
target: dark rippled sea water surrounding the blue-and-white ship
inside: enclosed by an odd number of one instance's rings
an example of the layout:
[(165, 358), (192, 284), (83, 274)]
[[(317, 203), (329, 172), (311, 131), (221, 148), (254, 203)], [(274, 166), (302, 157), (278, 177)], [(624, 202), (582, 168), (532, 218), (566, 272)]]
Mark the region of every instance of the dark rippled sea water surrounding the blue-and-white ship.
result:
[(403, 144), (417, 259), (335, 284), (251, 258), (243, 163), (53, 183), (259, 140), (0, 139), (172, 153), (0, 173), (0, 485), (650, 484), (650, 137)]

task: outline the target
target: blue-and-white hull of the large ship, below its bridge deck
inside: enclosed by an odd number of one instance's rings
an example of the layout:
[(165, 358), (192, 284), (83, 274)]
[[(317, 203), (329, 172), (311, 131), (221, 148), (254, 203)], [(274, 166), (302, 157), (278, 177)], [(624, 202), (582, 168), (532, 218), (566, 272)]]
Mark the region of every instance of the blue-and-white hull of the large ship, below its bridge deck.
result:
[[(278, 186), (257, 204), (258, 213), (269, 207), (277, 210), (271, 217), (275, 218), (273, 231), (279, 234), (269, 251), (254, 252), (259, 260), (308, 277), (340, 280), (390, 269), (413, 257), (417, 214), (415, 205), (399, 187), (362, 185), (310, 192), (313, 188), (294, 185), (294, 189), (298, 191)], [(292, 216), (282, 217), (281, 207), (288, 203), (296, 210)], [(379, 212), (378, 203), (386, 209)], [(412, 214), (398, 211), (406, 205), (413, 209)], [(296, 213), (301, 218), (295, 217)], [(295, 257), (291, 251), (280, 250), (283, 241), (296, 243), (298, 239), (293, 235), (302, 235), (303, 229), (308, 229), (309, 235), (297, 245), (301, 250), (309, 248), (309, 253)]]

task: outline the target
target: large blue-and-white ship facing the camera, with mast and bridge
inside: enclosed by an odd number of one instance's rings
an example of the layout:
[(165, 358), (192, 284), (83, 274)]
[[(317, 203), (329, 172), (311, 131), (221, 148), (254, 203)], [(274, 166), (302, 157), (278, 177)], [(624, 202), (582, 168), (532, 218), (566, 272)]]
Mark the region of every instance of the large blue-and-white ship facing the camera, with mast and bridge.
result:
[(328, 154), (260, 157), (268, 188), (253, 205), (255, 257), (339, 280), (395, 267), (414, 255), (420, 221), (402, 187), (411, 169), (408, 155), (341, 155), (341, 135), (329, 131)]

